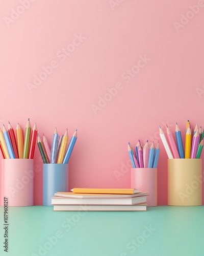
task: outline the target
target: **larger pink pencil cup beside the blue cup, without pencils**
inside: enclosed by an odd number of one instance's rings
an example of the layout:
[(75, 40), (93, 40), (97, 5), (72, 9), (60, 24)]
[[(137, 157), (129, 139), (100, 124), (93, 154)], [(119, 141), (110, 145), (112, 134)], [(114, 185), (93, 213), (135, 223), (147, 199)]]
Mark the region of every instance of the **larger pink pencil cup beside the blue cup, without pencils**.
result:
[(33, 205), (33, 159), (2, 159), (2, 205)]

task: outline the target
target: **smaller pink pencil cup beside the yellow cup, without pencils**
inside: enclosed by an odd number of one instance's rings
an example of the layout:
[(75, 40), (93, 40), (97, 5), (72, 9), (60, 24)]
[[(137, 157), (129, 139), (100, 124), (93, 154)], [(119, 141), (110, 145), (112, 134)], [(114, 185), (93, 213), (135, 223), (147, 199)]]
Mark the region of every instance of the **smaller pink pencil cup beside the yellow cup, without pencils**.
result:
[(131, 188), (148, 192), (147, 206), (157, 206), (157, 168), (131, 168)]

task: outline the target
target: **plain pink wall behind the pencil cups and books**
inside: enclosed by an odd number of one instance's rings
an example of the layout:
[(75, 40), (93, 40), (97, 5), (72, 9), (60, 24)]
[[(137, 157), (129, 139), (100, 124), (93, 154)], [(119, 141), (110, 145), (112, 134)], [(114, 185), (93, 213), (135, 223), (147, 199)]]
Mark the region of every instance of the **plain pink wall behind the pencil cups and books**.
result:
[[(174, 132), (178, 122), (183, 139), (187, 119), (193, 129), (196, 122), (204, 127), (203, 1), (22, 0), (0, 5), (1, 128), (10, 121), (14, 129), (19, 122), (24, 130), (29, 117), (49, 144), (55, 126), (60, 135), (68, 128), (69, 138), (78, 129), (69, 161), (70, 188), (130, 187), (127, 142), (157, 141), (159, 124), (167, 123)], [(80, 35), (81, 41), (74, 39)], [(67, 46), (68, 55), (63, 55)], [(139, 61), (145, 56), (146, 63)], [(56, 68), (35, 85), (34, 75), (51, 62)], [(128, 78), (125, 73), (132, 68), (136, 74)], [(28, 83), (34, 88), (29, 90)], [(111, 98), (107, 88), (113, 87), (120, 90), (114, 89)], [(97, 109), (100, 97), (109, 101)], [(160, 146), (158, 203), (165, 205), (167, 155), (161, 140)], [(41, 205), (37, 146), (34, 163), (34, 204)]]

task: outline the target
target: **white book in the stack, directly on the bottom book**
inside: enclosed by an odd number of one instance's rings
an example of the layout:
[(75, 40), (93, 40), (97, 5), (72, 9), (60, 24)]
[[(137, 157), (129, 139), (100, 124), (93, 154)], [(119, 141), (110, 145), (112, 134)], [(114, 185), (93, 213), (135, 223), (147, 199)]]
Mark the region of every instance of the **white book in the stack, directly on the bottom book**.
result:
[(133, 198), (51, 198), (51, 204), (132, 205), (139, 203), (146, 203), (146, 196)]

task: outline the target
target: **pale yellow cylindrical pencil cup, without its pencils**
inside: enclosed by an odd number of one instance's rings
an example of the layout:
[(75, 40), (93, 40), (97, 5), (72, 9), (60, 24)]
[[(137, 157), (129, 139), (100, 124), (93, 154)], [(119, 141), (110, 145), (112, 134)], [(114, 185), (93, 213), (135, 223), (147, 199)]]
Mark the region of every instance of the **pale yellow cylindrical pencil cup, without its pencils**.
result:
[(202, 204), (202, 159), (168, 159), (168, 205)]

